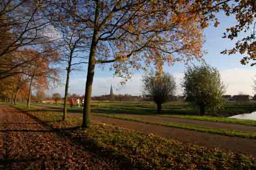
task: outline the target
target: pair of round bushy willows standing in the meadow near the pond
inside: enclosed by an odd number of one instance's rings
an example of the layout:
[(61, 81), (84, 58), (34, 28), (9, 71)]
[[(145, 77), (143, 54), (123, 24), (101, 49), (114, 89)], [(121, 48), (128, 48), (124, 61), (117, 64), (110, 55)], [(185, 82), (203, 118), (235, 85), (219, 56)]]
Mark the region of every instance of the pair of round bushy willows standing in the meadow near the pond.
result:
[[(151, 72), (143, 76), (143, 93), (152, 98), (157, 104), (157, 112), (162, 110), (162, 104), (175, 94), (175, 78), (171, 74), (163, 73), (160, 77)], [(182, 88), (186, 101), (200, 109), (201, 115), (209, 111), (216, 111), (223, 107), (225, 99), (225, 85), (219, 71), (204, 63), (201, 66), (188, 67), (185, 71)]]

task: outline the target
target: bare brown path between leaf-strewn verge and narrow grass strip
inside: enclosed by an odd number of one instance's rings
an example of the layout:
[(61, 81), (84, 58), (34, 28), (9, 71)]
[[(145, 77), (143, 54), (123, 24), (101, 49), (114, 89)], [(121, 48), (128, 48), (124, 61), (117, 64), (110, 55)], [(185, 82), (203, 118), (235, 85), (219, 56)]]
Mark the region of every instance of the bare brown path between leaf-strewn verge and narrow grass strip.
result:
[(144, 133), (153, 133), (157, 136), (175, 139), (183, 143), (190, 143), (208, 148), (219, 148), (222, 150), (240, 152), (243, 154), (256, 156), (256, 140), (254, 139), (228, 137), (218, 134), (195, 132), (184, 129), (150, 125), (127, 120), (111, 119), (100, 116), (91, 116), (90, 118), (94, 122), (121, 126)]

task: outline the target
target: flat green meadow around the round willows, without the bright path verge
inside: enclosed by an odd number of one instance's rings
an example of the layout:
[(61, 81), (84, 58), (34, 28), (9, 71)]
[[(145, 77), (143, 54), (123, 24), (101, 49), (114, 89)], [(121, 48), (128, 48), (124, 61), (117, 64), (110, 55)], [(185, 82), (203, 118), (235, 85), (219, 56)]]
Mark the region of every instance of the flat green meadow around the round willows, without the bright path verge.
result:
[[(36, 103), (34, 103), (36, 104)], [(37, 104), (38, 106), (51, 106), (62, 107), (62, 104)], [(76, 106), (77, 107), (77, 106)], [(77, 112), (81, 109), (73, 108), (69, 111)], [(142, 101), (142, 102), (119, 102), (119, 101), (92, 101), (92, 112), (95, 113), (126, 113), (126, 114), (139, 114), (139, 115), (154, 115), (156, 114), (156, 105), (154, 102)], [(250, 103), (236, 103), (228, 102), (224, 105), (224, 108), (217, 113), (209, 113), (213, 115), (228, 117), (241, 113), (251, 113), (256, 111), (256, 102)], [(197, 115), (193, 105), (187, 102), (171, 101), (162, 105), (162, 113), (165, 115)]]

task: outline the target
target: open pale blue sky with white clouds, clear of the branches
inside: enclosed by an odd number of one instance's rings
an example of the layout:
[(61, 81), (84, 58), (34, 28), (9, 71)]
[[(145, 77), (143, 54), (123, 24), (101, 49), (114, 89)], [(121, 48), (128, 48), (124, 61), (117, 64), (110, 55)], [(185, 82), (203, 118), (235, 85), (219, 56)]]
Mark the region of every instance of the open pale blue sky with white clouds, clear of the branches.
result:
[[(211, 66), (219, 69), (222, 75), (222, 81), (227, 85), (226, 94), (235, 95), (239, 92), (243, 92), (245, 94), (253, 95), (252, 85), (253, 77), (256, 74), (254, 73), (256, 67), (241, 65), (239, 61), (242, 57), (239, 54), (231, 56), (220, 54), (225, 48), (230, 49), (233, 47), (236, 42), (236, 39), (231, 41), (222, 38), (225, 29), (230, 25), (235, 25), (236, 20), (232, 16), (226, 17), (223, 13), (218, 14), (217, 17), (220, 25), (215, 28), (213, 27), (213, 24), (210, 24), (204, 31), (206, 42), (202, 50), (208, 52), (208, 54), (204, 56), (204, 59)], [(193, 61), (193, 63), (197, 62)], [(186, 66), (184, 63), (175, 63), (172, 67), (164, 66), (164, 71), (173, 74), (176, 78), (178, 84), (176, 94), (182, 94), (182, 89), (180, 88), (179, 83), (181, 82), (185, 69)], [(86, 66), (84, 66), (83, 71), (73, 72), (71, 74), (69, 93), (84, 94), (86, 71)], [(108, 94), (111, 84), (114, 86), (114, 92), (116, 94), (140, 95), (141, 74), (143, 74), (142, 71), (135, 72), (131, 81), (127, 82), (126, 85), (121, 86), (119, 83), (121, 82), (121, 79), (113, 77), (113, 73), (110, 72), (107, 67), (102, 70), (100, 66), (97, 66), (94, 75), (93, 96)], [(65, 81), (65, 77), (63, 77), (63, 81)], [(63, 96), (64, 86), (52, 89), (51, 92), (58, 92)]]

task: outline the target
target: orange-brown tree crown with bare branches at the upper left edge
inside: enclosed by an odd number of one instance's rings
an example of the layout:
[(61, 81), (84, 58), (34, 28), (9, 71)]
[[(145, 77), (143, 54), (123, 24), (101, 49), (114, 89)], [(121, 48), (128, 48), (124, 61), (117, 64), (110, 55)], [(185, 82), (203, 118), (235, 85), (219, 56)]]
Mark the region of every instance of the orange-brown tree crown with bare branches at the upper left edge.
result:
[[(20, 58), (24, 48), (34, 48), (40, 53), (53, 50), (54, 30), (50, 30), (50, 20), (42, 13), (41, 1), (1, 0), (0, 1), (0, 79), (20, 74), (24, 64), (36, 60)], [(7, 62), (3, 62), (7, 61)]]

